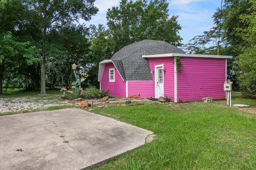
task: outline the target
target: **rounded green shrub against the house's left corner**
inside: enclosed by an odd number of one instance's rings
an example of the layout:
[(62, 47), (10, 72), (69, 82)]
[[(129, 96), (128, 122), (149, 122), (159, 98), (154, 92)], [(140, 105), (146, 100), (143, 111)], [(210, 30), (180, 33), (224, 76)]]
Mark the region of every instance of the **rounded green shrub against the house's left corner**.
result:
[(108, 91), (99, 90), (96, 87), (89, 87), (84, 89), (81, 97), (86, 99), (99, 99), (108, 95)]

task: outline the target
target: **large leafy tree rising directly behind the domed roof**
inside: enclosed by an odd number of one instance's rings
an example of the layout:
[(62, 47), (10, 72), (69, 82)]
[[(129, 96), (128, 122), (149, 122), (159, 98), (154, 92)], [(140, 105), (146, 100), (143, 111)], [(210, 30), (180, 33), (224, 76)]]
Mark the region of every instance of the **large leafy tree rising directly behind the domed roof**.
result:
[(110, 48), (117, 52), (143, 39), (165, 40), (175, 46), (181, 45), (178, 16), (169, 17), (167, 7), (165, 0), (122, 0), (118, 7), (108, 9)]

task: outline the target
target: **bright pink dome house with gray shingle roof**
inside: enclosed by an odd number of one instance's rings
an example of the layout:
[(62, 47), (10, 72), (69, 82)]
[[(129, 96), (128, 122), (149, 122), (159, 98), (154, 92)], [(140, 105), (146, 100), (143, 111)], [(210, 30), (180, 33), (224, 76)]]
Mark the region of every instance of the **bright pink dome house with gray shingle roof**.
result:
[(175, 103), (225, 99), (228, 58), (232, 56), (185, 54), (165, 41), (142, 40), (100, 62), (98, 81), (100, 89), (116, 97), (167, 96)]

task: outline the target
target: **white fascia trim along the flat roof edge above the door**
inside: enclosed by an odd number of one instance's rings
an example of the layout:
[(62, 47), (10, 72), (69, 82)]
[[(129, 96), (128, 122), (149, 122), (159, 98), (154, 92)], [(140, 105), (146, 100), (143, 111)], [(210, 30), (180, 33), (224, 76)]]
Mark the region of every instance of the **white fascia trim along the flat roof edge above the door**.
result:
[(183, 54), (183, 53), (167, 53), (167, 54), (155, 54), (155, 55), (142, 55), (143, 58), (154, 57), (201, 57), (201, 58), (233, 58), (229, 55), (204, 55), (204, 54)]

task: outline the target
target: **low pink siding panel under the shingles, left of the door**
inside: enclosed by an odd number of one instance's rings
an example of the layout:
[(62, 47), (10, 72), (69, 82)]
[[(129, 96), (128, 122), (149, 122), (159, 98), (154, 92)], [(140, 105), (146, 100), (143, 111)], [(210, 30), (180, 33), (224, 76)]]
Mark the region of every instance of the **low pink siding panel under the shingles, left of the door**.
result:
[(153, 81), (128, 81), (128, 96), (155, 97)]

